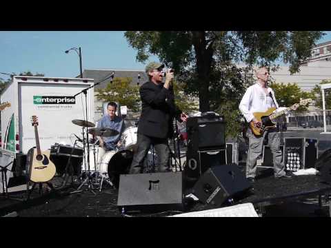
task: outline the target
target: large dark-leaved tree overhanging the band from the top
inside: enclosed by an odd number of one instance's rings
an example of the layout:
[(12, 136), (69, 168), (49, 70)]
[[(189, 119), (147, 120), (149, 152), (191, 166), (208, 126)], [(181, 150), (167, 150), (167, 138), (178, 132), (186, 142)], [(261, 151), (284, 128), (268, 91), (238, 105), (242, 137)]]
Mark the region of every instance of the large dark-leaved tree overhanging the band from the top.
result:
[[(174, 68), (177, 79), (185, 81), (185, 91), (199, 97), (199, 110), (216, 110), (240, 99), (247, 72), (252, 65), (277, 68), (283, 59), (290, 72), (298, 72), (301, 61), (310, 56), (319, 31), (128, 31), (129, 45), (137, 49), (137, 60), (150, 54)], [(238, 63), (248, 65), (237, 68)], [(240, 76), (239, 76), (240, 75)], [(236, 92), (236, 93), (234, 93)]]

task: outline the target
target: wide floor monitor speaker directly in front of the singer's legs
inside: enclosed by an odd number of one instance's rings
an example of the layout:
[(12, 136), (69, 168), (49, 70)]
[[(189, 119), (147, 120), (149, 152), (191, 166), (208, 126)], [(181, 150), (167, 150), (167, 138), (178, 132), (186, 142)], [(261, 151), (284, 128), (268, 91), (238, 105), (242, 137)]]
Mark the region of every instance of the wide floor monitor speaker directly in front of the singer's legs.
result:
[(122, 174), (117, 206), (125, 211), (183, 210), (181, 172)]

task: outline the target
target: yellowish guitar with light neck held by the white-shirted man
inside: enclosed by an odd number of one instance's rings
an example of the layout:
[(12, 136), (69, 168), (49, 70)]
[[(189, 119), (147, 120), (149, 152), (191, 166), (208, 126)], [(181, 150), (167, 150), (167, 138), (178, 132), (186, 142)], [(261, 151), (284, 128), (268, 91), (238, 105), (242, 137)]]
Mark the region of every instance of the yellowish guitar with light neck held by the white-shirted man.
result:
[(263, 135), (263, 132), (267, 130), (270, 127), (275, 127), (277, 122), (274, 120), (275, 118), (285, 114), (286, 112), (290, 110), (297, 110), (297, 108), (300, 105), (307, 105), (308, 103), (311, 103), (312, 99), (304, 99), (301, 100), (300, 103), (295, 103), (292, 105), (292, 107), (287, 107), (285, 110), (274, 112), (276, 110), (276, 107), (270, 107), (265, 112), (254, 112), (253, 115), (261, 123), (260, 126), (257, 126), (254, 124), (254, 121), (250, 121), (250, 129), (252, 130), (252, 133), (255, 136), (261, 136)]

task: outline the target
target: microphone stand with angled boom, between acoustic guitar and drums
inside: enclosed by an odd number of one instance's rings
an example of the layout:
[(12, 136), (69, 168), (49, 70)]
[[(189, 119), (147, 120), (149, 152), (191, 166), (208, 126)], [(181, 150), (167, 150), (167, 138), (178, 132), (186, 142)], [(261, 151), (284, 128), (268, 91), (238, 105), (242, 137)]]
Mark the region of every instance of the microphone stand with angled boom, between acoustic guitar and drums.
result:
[[(99, 83), (101, 83), (101, 81)], [(88, 189), (90, 189), (90, 192), (92, 192), (94, 195), (96, 195), (95, 192), (93, 191), (92, 176), (90, 175), (90, 145), (89, 145), (89, 141), (88, 141), (88, 99), (87, 99), (87, 92), (92, 87), (95, 87), (95, 86), (99, 85), (99, 83), (95, 83), (95, 84), (91, 85), (90, 87), (87, 87), (87, 88), (81, 90), (81, 92), (79, 92), (79, 93), (77, 93), (77, 94), (74, 95), (74, 98), (76, 98), (76, 96), (78, 96), (81, 93), (83, 93), (85, 95), (86, 120), (84, 119), (84, 121), (86, 123), (86, 126), (85, 127), (86, 127), (86, 143), (87, 143), (87, 150), (88, 150), (88, 158), (87, 158), (87, 162), (88, 162), (87, 163), (88, 164), (88, 174), (86, 176), (86, 179), (83, 181), (83, 183), (81, 183), (81, 185), (79, 185), (79, 187), (77, 188), (77, 190), (75, 190), (74, 192), (71, 192), (71, 194), (81, 192), (81, 190), (80, 190), (81, 187), (85, 183), (87, 183)], [(84, 139), (84, 136), (83, 136), (83, 139)], [(85, 149), (84, 149), (84, 152), (85, 152)]]

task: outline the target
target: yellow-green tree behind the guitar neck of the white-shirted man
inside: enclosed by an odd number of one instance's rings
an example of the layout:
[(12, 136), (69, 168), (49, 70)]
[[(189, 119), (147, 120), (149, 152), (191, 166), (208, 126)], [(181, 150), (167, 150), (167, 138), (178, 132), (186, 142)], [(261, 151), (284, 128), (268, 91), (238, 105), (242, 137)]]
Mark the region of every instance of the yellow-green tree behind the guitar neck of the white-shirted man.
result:
[[(291, 107), (295, 103), (299, 103), (301, 99), (312, 99), (316, 96), (312, 92), (304, 92), (300, 89), (297, 83), (270, 83), (270, 87), (274, 90), (277, 103), (280, 107)], [(297, 111), (308, 110), (308, 106), (301, 105)]]

